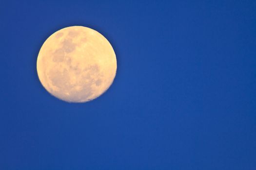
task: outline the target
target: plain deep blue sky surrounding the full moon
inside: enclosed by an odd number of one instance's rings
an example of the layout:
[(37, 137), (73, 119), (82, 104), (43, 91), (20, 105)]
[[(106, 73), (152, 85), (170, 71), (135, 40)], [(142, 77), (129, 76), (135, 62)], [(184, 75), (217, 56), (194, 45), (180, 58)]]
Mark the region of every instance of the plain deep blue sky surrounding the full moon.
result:
[[(118, 60), (82, 104), (36, 70), (74, 25)], [(0, 37), (0, 170), (256, 170), (256, 0), (1, 0)]]

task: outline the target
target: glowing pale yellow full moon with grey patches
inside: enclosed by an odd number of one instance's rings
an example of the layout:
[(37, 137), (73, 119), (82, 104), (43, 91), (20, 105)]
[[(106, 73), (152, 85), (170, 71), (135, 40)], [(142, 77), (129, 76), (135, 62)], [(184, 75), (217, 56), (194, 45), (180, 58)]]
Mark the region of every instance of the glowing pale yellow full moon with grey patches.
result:
[(53, 96), (66, 102), (87, 102), (113, 83), (117, 59), (103, 35), (72, 26), (46, 39), (39, 51), (37, 71), (41, 84)]

